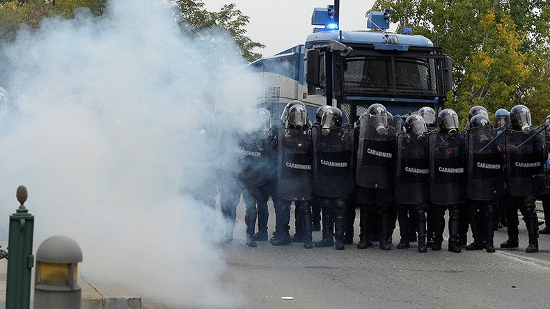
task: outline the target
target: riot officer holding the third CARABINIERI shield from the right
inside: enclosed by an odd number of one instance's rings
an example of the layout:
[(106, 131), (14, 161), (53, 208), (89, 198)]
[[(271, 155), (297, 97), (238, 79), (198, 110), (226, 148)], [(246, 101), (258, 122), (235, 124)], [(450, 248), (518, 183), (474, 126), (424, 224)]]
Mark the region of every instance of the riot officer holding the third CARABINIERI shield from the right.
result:
[(437, 133), (430, 134), (430, 196), (436, 216), (432, 250), (441, 250), (445, 210), (449, 210), (448, 250), (459, 253), (460, 210), (466, 201), (466, 132), (459, 132), (458, 116), (443, 109), (437, 116)]

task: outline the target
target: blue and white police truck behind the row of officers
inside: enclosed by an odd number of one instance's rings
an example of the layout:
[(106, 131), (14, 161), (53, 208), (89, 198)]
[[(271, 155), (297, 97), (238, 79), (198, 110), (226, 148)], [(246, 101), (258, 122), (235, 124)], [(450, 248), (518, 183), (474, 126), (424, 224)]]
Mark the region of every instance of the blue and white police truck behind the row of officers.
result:
[(257, 100), (276, 118), (291, 100), (310, 109), (328, 104), (342, 109), (350, 121), (373, 103), (406, 115), (422, 106), (443, 108), (452, 88), (451, 58), (428, 38), (389, 33), (390, 12), (371, 12), (367, 30), (338, 29), (339, 1), (315, 8), (315, 28), (297, 45), (247, 65), (262, 80)]

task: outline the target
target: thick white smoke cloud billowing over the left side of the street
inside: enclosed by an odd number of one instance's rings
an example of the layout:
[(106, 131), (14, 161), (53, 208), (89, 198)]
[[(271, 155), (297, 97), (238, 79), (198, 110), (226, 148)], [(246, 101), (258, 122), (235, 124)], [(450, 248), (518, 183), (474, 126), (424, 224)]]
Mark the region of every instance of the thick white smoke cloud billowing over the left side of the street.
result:
[[(10, 70), (1, 238), (24, 184), (35, 248), (68, 235), (83, 249), (84, 274), (117, 278), (167, 306), (241, 305), (221, 285), (215, 214), (189, 194), (215, 179), (204, 158), (218, 154), (212, 138), (196, 138), (199, 127), (214, 132), (213, 116), (188, 102), (214, 97), (214, 77), (245, 63), (230, 56), (236, 50), (229, 35), (185, 37), (161, 0), (111, 1), (100, 19), (80, 11), (19, 33), (1, 51)], [(258, 85), (247, 80), (226, 95)]]

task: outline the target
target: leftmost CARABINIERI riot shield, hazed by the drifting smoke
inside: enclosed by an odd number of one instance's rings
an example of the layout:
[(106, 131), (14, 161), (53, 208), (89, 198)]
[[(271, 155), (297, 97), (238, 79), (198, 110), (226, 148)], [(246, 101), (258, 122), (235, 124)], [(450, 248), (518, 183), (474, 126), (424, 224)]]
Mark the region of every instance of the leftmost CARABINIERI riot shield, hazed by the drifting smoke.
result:
[(239, 180), (246, 187), (260, 187), (267, 182), (267, 136), (262, 132), (255, 132), (240, 137), (235, 148), (239, 158)]

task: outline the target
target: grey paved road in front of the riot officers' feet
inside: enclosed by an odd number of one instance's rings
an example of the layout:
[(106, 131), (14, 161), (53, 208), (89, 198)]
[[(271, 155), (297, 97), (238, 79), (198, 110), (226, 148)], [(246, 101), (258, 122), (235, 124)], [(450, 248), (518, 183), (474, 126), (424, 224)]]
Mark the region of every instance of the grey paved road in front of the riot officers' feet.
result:
[[(398, 250), (398, 230), (392, 251), (354, 245), (336, 251), (269, 242), (247, 248), (243, 213), (239, 205), (235, 240), (221, 248), (228, 261), (223, 282), (243, 294), (247, 308), (550, 308), (550, 235), (540, 237), (543, 252), (527, 254), (521, 221), (518, 251)], [(273, 219), (271, 214), (270, 228)], [(359, 221), (355, 226), (359, 235)], [(321, 232), (313, 238), (319, 240)], [(496, 246), (506, 238), (505, 229), (496, 232)]]

